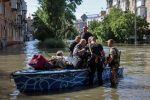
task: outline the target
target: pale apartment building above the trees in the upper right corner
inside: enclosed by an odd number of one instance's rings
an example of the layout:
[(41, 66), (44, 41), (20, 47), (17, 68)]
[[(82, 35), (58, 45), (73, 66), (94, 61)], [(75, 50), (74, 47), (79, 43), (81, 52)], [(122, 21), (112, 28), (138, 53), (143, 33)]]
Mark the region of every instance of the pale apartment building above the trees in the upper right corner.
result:
[[(135, 0), (107, 0), (108, 12), (112, 6), (135, 13)], [(150, 23), (150, 0), (136, 0), (136, 14)]]

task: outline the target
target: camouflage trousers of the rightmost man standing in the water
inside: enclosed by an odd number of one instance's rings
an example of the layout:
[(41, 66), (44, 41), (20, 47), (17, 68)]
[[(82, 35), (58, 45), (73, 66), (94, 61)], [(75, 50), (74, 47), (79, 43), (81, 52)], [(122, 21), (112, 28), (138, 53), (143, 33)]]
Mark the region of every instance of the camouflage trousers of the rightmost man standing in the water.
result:
[(118, 68), (119, 68), (119, 64), (111, 64), (110, 65), (110, 82), (111, 85), (116, 85), (118, 84)]

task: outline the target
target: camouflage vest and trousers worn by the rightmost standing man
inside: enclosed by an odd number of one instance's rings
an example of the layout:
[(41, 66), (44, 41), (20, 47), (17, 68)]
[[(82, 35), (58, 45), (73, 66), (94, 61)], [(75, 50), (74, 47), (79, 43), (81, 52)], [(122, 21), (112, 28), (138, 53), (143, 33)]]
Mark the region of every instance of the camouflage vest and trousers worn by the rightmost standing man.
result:
[(114, 55), (114, 59), (112, 62), (109, 64), (110, 65), (110, 82), (111, 85), (116, 85), (118, 83), (118, 68), (120, 64), (120, 52), (117, 48), (111, 47), (109, 49), (109, 56)]

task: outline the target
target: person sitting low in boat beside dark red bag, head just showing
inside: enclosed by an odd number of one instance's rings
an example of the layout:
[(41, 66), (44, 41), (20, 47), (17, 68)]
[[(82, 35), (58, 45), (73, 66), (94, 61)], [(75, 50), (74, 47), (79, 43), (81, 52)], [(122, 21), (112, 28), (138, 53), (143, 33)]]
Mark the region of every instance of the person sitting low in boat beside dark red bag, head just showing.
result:
[(64, 58), (63, 51), (57, 51), (56, 56), (51, 57), (49, 62), (56, 68), (73, 68), (72, 62)]

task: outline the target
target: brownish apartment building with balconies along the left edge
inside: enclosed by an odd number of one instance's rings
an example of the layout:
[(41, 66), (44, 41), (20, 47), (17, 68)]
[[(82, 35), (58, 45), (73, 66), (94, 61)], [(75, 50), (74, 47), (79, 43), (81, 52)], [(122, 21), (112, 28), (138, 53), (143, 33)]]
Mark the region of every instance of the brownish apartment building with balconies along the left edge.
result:
[(0, 0), (0, 42), (2, 47), (24, 41), (27, 5), (24, 0)]

